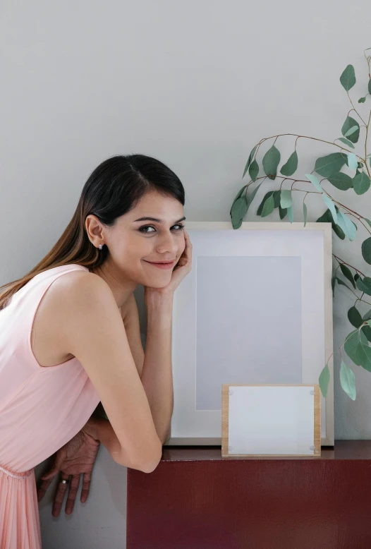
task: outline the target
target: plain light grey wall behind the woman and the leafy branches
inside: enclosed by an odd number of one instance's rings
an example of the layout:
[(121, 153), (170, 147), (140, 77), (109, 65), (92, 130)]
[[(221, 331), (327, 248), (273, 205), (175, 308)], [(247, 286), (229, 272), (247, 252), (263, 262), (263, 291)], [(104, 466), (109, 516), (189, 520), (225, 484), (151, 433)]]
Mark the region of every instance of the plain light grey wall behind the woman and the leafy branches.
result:
[[(87, 176), (114, 154), (162, 159), (186, 188), (188, 220), (229, 221), (248, 152), (260, 138), (341, 135), (351, 109), (339, 83), (343, 68), (354, 64), (367, 83), (368, 7), (366, 0), (3, 0), (1, 284), (49, 251)], [(355, 101), (361, 95), (357, 85)], [(287, 154), (292, 147), (280, 145)], [(298, 152), (304, 174), (332, 147), (299, 141)], [(276, 186), (266, 181), (256, 205)], [(332, 194), (363, 215), (370, 210), (370, 193)], [(296, 221), (302, 198), (294, 195)], [(324, 205), (315, 195), (306, 203), (314, 221)], [(269, 217), (276, 219), (276, 212)], [(355, 242), (334, 237), (334, 246), (370, 274), (360, 255), (365, 236), (360, 227)], [(353, 302), (343, 286), (336, 290), (335, 349), (351, 329), (346, 310)], [(339, 387), (339, 353), (335, 369), (336, 438), (370, 438), (371, 376), (357, 368), (352, 402)], [(50, 491), (40, 514), (47, 549), (123, 548), (125, 469), (102, 448), (87, 503), (77, 502), (72, 517), (52, 519)]]

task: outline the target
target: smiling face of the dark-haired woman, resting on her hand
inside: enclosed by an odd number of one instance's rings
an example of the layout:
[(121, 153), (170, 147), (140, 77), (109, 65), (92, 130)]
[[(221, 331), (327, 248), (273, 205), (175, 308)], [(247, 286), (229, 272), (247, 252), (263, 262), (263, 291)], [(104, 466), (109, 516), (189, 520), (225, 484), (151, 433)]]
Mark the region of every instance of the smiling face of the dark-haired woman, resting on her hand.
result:
[[(125, 279), (154, 288), (169, 284), (185, 248), (183, 218), (183, 205), (176, 198), (150, 191), (114, 227), (104, 228), (104, 243)], [(174, 264), (167, 269), (151, 264), (171, 260)]]

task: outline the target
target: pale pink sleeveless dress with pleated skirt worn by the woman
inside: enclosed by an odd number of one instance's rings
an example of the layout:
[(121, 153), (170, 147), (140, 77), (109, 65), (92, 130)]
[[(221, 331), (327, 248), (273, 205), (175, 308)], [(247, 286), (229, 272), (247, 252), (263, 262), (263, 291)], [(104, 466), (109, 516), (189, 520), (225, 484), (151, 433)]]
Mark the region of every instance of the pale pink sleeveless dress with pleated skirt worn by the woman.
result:
[(83, 428), (99, 396), (77, 358), (39, 366), (31, 348), (37, 307), (71, 263), (39, 273), (0, 309), (0, 549), (39, 549), (34, 467)]

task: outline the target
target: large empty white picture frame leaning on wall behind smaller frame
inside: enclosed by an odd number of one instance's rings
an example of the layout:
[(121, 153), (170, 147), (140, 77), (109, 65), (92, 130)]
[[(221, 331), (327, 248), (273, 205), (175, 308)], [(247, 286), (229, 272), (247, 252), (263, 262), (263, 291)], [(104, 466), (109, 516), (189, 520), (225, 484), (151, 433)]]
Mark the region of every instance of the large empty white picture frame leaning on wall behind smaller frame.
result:
[(174, 293), (174, 412), (166, 445), (221, 445), (223, 383), (316, 384), (334, 445), (332, 226), (187, 222), (193, 267)]

